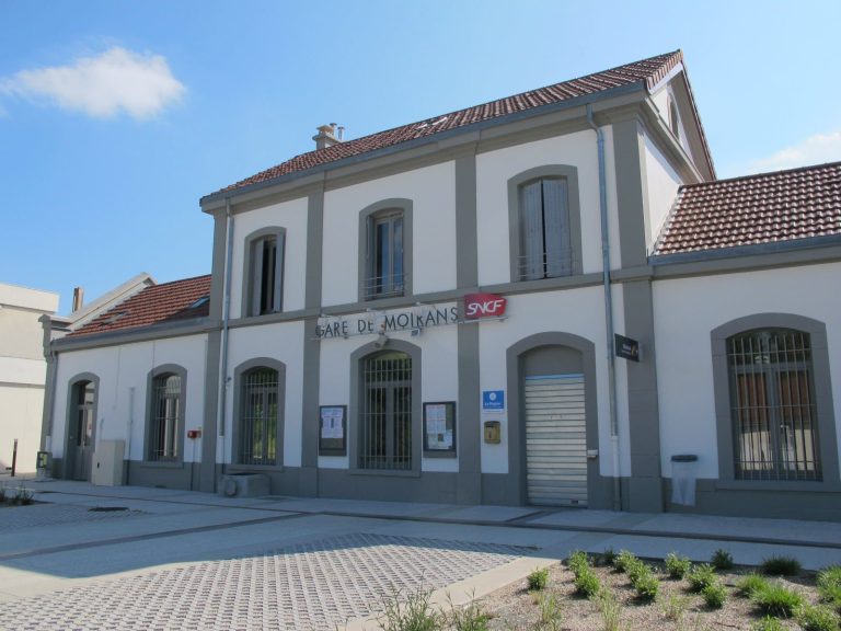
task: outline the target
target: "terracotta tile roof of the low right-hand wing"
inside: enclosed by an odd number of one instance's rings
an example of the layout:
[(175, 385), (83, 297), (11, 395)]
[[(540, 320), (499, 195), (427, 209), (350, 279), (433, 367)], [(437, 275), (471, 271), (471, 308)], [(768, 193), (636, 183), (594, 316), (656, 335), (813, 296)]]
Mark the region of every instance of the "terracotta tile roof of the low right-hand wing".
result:
[(688, 184), (655, 255), (841, 234), (841, 162)]

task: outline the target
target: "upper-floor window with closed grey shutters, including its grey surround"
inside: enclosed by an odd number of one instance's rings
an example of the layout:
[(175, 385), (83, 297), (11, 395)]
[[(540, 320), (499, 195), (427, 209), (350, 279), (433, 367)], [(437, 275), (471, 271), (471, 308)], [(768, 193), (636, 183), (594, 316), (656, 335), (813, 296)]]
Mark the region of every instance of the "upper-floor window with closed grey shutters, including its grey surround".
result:
[(511, 280), (581, 273), (577, 173), (556, 164), (508, 181)]

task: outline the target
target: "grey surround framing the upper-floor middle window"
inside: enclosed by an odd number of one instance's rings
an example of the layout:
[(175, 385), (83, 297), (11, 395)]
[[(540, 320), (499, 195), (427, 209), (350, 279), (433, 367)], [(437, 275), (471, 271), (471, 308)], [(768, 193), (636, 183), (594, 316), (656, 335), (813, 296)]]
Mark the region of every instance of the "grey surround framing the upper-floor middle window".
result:
[[(392, 197), (370, 204), (359, 211), (359, 302), (372, 302), (393, 296), (412, 296), (412, 199)], [(400, 294), (371, 295), (368, 290), (373, 271), (372, 251), (375, 243), (371, 242), (371, 225), (378, 217), (395, 211), (402, 214), (403, 217), (403, 290)]]

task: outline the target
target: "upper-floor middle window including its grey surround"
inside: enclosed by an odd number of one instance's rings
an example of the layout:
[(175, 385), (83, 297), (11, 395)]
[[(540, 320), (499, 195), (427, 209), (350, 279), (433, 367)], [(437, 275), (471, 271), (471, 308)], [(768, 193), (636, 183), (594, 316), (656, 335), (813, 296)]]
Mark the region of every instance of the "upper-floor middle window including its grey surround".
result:
[(360, 213), (360, 300), (412, 292), (412, 202), (385, 199)]

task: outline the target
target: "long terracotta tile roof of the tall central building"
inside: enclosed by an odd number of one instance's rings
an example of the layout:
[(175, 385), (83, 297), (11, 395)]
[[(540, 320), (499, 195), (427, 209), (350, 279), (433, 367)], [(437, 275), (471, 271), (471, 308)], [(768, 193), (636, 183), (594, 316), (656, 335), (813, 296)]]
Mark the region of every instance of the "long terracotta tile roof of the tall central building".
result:
[(541, 105), (568, 101), (577, 96), (601, 92), (611, 88), (644, 82), (646, 89), (652, 90), (672, 68), (675, 68), (675, 66), (682, 61), (683, 54), (680, 50), (676, 50), (673, 53), (643, 59), (642, 61), (634, 61), (633, 64), (611, 68), (610, 70), (579, 77), (578, 79), (572, 79), (537, 90), (530, 90), (529, 92), (515, 94), (514, 96), (507, 96), (482, 105), (475, 105), (473, 107), (468, 107), (466, 110), (459, 110), (458, 112), (433, 116), (426, 121), (403, 125), (402, 127), (395, 127), (385, 131), (379, 131), (377, 134), (371, 134), (370, 136), (364, 136), (362, 138), (346, 140), (332, 147), (301, 153), (277, 167), (273, 167), (256, 175), (252, 175), (251, 177), (246, 177), (245, 180), (227, 186), (218, 193), (267, 182), (275, 177), (306, 171), (344, 158), (350, 158), (377, 149), (392, 147), (408, 140), (433, 136), (441, 131), (456, 129), (473, 123), (532, 110), (534, 107), (540, 107)]

